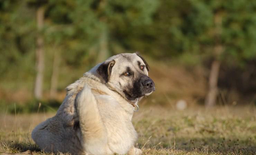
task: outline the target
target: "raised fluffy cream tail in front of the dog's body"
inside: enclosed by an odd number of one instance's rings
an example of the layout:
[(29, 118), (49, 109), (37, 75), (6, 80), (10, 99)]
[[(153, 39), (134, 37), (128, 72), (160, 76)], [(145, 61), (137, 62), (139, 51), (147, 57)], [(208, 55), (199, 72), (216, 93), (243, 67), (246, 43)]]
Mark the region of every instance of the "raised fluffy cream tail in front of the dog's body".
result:
[(76, 96), (82, 146), (88, 154), (107, 154), (107, 132), (91, 89), (85, 85)]

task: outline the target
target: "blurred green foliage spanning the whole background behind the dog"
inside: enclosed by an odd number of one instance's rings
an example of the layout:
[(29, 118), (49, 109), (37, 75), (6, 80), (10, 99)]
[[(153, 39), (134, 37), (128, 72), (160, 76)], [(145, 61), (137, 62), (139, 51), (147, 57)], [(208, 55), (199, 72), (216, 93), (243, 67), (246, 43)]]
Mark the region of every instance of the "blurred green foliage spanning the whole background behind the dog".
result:
[[(36, 28), (39, 6), (45, 7), (41, 32)], [(56, 51), (61, 57), (58, 85), (64, 89), (102, 61), (100, 56), (121, 52), (192, 65), (216, 57), (225, 65), (246, 66), (256, 59), (255, 29), (252, 0), (2, 0), (0, 80), (32, 90), (38, 33), (44, 38), (48, 90)], [(223, 52), (214, 53), (216, 45)]]

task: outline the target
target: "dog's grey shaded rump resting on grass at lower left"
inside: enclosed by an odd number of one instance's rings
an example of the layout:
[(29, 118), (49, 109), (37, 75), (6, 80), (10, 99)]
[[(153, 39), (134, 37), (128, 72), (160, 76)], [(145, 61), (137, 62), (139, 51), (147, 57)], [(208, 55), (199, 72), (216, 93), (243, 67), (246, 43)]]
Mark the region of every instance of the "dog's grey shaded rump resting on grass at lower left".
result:
[(70, 152), (72, 154), (83, 152), (73, 126), (64, 127), (58, 116), (37, 125), (31, 135), (44, 152)]

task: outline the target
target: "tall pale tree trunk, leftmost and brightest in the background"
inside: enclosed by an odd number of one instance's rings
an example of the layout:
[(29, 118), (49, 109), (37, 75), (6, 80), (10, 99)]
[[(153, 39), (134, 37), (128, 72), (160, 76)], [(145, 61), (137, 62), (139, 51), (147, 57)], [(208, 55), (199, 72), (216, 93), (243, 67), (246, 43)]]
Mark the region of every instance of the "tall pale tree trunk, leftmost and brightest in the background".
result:
[(38, 35), (36, 38), (36, 81), (34, 95), (36, 99), (42, 99), (43, 96), (43, 78), (44, 78), (44, 39), (42, 29), (44, 26), (44, 7), (39, 7), (36, 12)]

